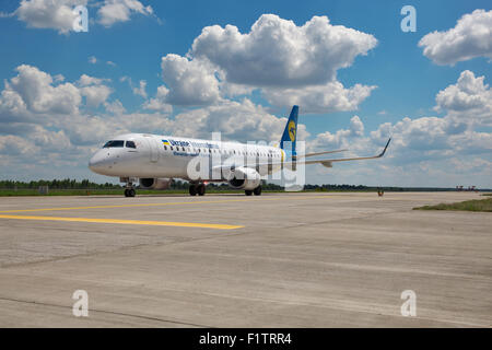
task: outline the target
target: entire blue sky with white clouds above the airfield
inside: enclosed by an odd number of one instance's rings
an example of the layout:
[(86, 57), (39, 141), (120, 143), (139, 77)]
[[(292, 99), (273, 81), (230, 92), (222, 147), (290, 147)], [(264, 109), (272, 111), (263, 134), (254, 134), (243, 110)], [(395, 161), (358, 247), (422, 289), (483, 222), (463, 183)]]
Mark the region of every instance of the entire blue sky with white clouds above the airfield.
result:
[(122, 132), (278, 141), (298, 104), (307, 151), (393, 138), (307, 183), (492, 187), (490, 1), (4, 0), (0, 50), (2, 179), (107, 182)]

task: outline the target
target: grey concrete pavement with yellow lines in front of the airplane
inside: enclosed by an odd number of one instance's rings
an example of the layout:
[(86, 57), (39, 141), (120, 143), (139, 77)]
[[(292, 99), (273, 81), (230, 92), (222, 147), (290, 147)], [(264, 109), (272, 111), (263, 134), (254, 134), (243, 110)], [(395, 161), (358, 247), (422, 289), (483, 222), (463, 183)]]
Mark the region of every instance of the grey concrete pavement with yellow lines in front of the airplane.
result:
[(471, 198), (3, 197), (0, 326), (490, 327), (492, 214), (411, 210)]

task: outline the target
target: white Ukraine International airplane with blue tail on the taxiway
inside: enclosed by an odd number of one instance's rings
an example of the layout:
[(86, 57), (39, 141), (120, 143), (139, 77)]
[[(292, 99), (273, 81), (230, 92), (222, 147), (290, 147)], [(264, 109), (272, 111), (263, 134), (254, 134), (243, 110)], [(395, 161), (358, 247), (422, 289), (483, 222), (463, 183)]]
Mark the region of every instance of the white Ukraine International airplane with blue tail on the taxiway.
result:
[(283, 168), (295, 171), (297, 165), (331, 167), (335, 162), (382, 158), (391, 141), (389, 139), (383, 152), (374, 156), (305, 160), (347, 150), (297, 154), (297, 116), (298, 106), (295, 105), (278, 145), (148, 133), (120, 135), (107, 141), (92, 156), (89, 167), (101, 175), (119, 177), (126, 184), (125, 197), (136, 196), (137, 182), (142, 189), (167, 189), (173, 178), (188, 180), (191, 196), (203, 196), (206, 185), (211, 182), (226, 182), (235, 189), (243, 189), (246, 196), (260, 196), (261, 177), (266, 175)]

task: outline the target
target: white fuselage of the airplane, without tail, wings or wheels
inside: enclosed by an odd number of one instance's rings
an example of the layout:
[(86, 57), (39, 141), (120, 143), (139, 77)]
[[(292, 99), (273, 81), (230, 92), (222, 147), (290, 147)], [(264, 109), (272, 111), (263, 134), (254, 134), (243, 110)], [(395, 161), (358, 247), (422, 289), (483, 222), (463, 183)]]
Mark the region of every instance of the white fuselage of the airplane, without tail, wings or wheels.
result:
[[(97, 151), (89, 163), (93, 172), (118, 177), (195, 179), (189, 176), (190, 162), (198, 160), (210, 164), (210, 168), (246, 165), (265, 176), (280, 170), (278, 165), (265, 164), (279, 164), (285, 158), (284, 152), (277, 147), (238, 142), (145, 133), (121, 135), (113, 140), (124, 143), (113, 142), (115, 147), (109, 144)], [(200, 176), (200, 180), (226, 179), (224, 176), (218, 178), (211, 172)]]

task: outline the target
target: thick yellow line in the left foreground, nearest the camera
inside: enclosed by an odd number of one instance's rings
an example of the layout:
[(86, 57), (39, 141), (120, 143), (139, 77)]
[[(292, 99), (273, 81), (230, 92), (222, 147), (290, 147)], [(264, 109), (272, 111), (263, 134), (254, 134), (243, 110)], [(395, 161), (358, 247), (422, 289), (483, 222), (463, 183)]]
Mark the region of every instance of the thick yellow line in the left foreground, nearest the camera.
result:
[(216, 223), (120, 220), (120, 219), (91, 219), (91, 218), (62, 218), (62, 217), (3, 215), (3, 214), (0, 214), (0, 219), (116, 223), (116, 224), (128, 224), (128, 225), (179, 226), (179, 228), (201, 228), (201, 229), (216, 229), (216, 230), (235, 230), (235, 229), (244, 228), (241, 225), (226, 225), (226, 224), (216, 224)]

